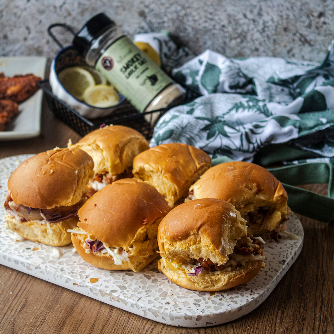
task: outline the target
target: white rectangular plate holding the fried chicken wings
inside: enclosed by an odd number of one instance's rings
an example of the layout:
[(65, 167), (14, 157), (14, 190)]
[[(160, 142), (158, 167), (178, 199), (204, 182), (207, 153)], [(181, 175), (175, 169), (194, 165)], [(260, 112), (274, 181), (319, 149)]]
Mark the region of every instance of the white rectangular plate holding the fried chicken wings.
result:
[[(0, 57), (0, 73), (6, 76), (32, 73), (44, 78), (46, 57)], [(0, 132), (0, 140), (37, 137), (40, 134), (42, 90), (19, 104), (19, 115)]]

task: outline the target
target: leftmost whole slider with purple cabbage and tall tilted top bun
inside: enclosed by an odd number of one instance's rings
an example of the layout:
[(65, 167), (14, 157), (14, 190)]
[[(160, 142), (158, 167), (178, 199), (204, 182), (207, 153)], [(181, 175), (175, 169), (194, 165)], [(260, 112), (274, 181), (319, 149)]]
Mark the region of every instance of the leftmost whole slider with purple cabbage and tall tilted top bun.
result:
[(93, 159), (78, 148), (55, 148), (22, 162), (8, 179), (8, 228), (25, 239), (62, 246), (71, 242)]

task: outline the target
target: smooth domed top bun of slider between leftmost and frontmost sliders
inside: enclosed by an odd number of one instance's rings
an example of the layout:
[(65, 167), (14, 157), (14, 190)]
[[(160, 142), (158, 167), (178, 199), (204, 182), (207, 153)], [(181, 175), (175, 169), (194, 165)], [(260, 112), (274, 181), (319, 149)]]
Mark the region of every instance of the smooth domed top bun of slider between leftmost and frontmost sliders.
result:
[(136, 235), (160, 221), (168, 210), (167, 202), (154, 187), (122, 179), (98, 191), (79, 209), (78, 227), (107, 247), (127, 251)]

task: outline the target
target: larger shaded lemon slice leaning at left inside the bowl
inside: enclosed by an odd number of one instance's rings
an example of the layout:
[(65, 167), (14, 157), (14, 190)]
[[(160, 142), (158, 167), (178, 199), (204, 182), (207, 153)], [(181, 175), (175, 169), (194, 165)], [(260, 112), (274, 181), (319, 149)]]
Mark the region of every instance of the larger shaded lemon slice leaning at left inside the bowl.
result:
[(63, 69), (58, 74), (58, 79), (69, 94), (81, 101), (86, 89), (95, 85), (93, 75), (81, 66)]

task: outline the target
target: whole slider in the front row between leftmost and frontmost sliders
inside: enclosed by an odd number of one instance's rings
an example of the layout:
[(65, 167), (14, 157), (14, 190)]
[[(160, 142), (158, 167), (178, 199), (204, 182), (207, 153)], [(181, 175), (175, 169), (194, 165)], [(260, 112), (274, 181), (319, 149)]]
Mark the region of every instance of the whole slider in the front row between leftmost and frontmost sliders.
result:
[(115, 181), (80, 208), (72, 243), (82, 259), (96, 267), (138, 272), (159, 256), (157, 230), (168, 210), (151, 185)]

